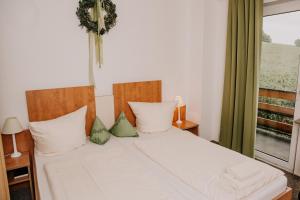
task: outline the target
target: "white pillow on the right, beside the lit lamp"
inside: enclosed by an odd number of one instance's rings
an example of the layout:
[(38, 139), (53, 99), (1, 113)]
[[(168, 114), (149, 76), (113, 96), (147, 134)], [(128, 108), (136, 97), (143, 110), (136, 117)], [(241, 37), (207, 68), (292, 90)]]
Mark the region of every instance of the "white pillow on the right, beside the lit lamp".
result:
[(137, 129), (143, 133), (166, 131), (172, 127), (175, 101), (162, 103), (128, 102), (136, 117)]

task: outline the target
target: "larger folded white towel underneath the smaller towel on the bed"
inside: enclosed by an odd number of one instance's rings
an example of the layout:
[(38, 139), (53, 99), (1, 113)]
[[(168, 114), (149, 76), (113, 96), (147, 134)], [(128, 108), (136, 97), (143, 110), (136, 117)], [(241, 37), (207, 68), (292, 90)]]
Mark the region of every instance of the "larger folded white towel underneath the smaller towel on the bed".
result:
[(260, 184), (261, 182), (264, 182), (264, 174), (262, 172), (257, 173), (256, 175), (245, 179), (243, 181), (240, 181), (238, 179), (235, 179), (234, 177), (232, 177), (230, 174), (225, 173), (223, 174), (223, 178), (225, 180), (225, 182), (232, 187), (235, 190), (243, 190), (246, 189), (248, 187), (252, 187), (255, 186), (257, 184)]

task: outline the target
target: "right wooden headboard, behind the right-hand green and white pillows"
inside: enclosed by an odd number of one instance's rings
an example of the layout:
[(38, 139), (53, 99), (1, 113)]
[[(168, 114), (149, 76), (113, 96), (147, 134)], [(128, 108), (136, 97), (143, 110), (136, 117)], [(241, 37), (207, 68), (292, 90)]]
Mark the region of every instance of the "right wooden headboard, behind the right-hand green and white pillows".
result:
[(128, 102), (161, 102), (161, 81), (144, 81), (113, 84), (115, 118), (123, 111), (128, 121), (135, 126), (135, 116)]

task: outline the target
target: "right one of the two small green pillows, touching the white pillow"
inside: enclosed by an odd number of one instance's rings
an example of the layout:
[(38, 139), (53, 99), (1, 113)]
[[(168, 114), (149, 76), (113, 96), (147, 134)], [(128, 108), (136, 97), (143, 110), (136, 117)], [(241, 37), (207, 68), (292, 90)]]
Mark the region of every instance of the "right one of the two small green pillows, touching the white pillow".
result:
[(121, 112), (113, 127), (109, 130), (116, 137), (138, 137), (136, 129), (127, 120), (125, 113)]

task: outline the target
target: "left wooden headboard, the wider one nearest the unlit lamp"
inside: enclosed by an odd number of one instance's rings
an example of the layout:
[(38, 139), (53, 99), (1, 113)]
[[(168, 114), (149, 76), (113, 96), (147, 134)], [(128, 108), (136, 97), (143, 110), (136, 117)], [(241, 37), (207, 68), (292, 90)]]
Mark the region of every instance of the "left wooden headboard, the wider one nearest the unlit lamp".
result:
[(86, 134), (96, 117), (94, 86), (26, 91), (29, 121), (54, 119), (87, 105)]

